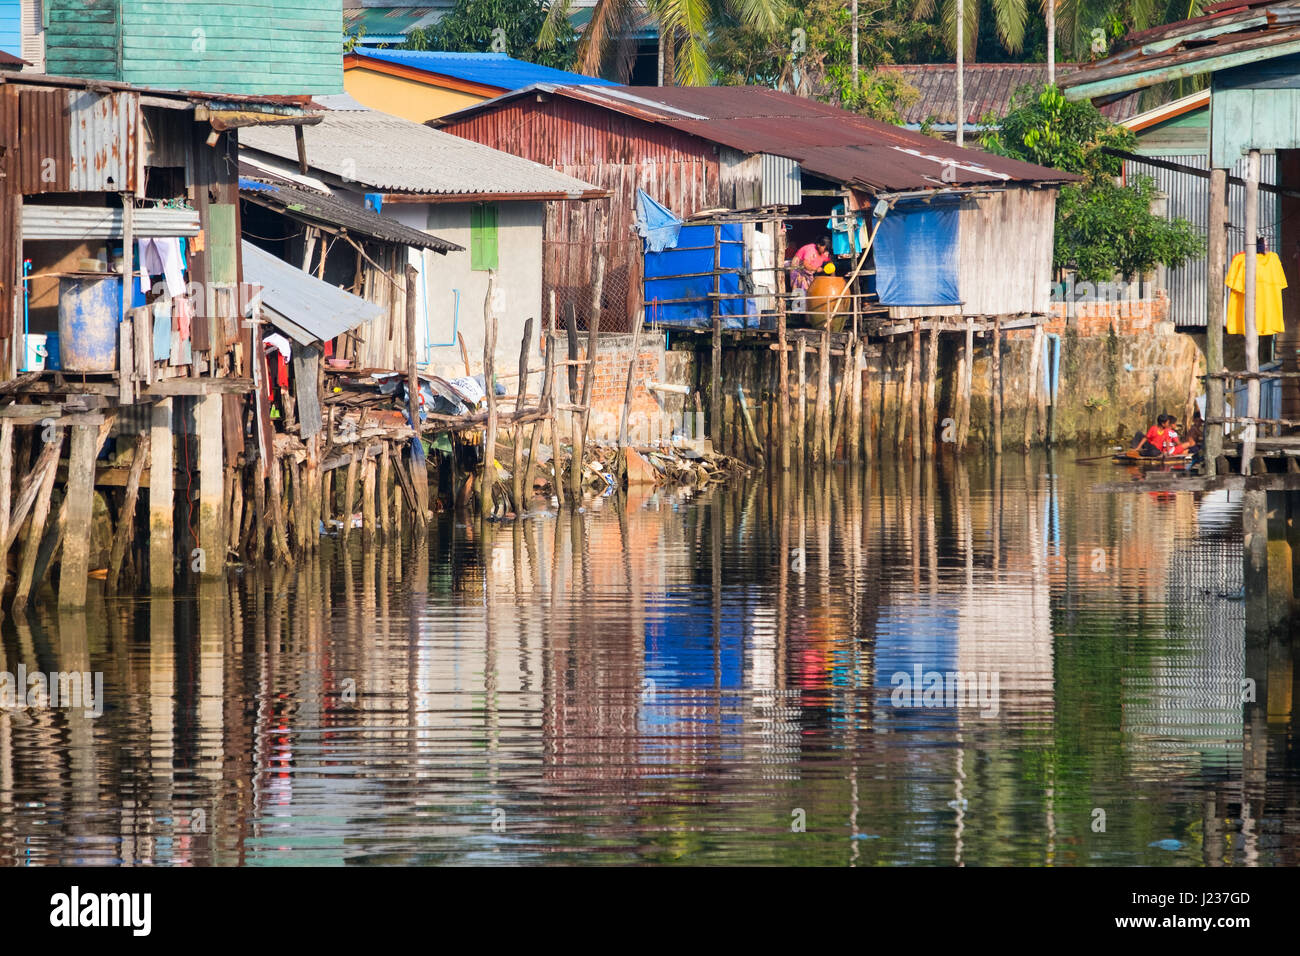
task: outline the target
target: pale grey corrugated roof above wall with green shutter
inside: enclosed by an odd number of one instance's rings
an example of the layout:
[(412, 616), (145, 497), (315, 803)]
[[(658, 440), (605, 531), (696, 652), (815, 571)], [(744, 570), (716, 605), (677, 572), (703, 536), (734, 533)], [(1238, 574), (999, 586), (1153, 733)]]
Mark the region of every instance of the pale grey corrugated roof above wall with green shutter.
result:
[[(374, 109), (326, 111), (303, 131), (313, 169), (390, 193), (577, 199), (593, 190), (537, 163)], [(287, 126), (240, 130), (239, 146), (298, 160)]]

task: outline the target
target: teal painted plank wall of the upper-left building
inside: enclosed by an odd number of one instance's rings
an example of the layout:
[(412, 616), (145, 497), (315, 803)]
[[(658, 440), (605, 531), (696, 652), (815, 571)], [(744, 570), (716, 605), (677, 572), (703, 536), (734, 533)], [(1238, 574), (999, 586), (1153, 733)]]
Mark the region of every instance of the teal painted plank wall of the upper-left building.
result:
[(49, 73), (172, 90), (343, 90), (342, 0), (47, 0)]

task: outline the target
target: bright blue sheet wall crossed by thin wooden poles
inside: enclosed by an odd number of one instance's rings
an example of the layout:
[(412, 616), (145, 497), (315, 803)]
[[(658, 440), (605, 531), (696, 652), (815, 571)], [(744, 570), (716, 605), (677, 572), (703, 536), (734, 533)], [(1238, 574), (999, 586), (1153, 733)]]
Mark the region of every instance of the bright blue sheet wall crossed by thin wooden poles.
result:
[[(738, 295), (740, 273), (749, 272), (740, 222), (722, 226), (719, 268), (723, 273), (719, 284), (722, 294)], [(698, 274), (712, 271), (714, 226), (682, 226), (676, 248), (646, 252), (646, 321), (697, 329), (712, 328), (712, 304), (708, 300), (708, 294), (714, 290), (712, 274)], [(719, 311), (723, 316), (723, 328), (745, 328), (745, 316), (751, 311), (750, 303), (751, 299), (722, 299)]]

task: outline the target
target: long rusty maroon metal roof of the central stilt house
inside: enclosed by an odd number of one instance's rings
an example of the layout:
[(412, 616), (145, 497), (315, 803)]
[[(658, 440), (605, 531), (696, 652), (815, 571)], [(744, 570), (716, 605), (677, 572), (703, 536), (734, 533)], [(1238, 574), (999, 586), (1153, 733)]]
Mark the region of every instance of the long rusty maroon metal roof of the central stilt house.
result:
[(612, 109), (740, 152), (785, 156), (814, 176), (874, 193), (992, 182), (1058, 183), (1078, 178), (1058, 169), (958, 148), (838, 107), (757, 86), (534, 85), (452, 113), (443, 121), (455, 122), (519, 96), (538, 94)]

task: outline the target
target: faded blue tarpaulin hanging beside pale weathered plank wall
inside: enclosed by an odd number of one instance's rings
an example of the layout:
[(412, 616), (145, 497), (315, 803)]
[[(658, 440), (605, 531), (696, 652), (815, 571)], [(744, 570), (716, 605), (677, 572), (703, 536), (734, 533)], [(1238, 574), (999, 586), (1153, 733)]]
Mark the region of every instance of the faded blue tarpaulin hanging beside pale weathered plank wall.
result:
[(876, 291), (881, 306), (959, 306), (959, 204), (900, 203), (876, 233)]

